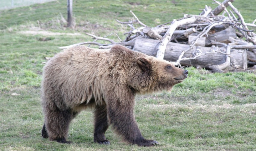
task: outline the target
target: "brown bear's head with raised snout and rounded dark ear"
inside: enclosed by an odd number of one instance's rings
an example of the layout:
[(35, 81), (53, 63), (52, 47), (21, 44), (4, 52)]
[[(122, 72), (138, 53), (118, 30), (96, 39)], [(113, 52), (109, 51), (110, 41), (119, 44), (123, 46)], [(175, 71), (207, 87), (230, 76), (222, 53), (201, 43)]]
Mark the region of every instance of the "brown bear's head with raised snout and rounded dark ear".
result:
[(138, 57), (136, 62), (139, 70), (131, 82), (141, 94), (170, 91), (175, 84), (188, 77), (187, 70), (175, 67), (170, 62), (156, 57)]

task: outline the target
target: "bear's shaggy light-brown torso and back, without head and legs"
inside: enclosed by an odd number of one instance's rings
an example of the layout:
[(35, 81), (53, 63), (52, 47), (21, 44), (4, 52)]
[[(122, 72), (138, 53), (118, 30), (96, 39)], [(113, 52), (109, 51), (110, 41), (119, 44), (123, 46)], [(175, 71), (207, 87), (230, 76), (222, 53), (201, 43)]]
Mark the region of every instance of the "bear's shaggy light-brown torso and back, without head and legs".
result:
[(67, 107), (89, 103), (92, 98), (100, 104), (106, 89), (125, 83), (135, 58), (144, 56), (122, 46), (113, 48), (76, 46), (55, 55), (44, 67), (42, 90), (45, 96), (59, 95)]

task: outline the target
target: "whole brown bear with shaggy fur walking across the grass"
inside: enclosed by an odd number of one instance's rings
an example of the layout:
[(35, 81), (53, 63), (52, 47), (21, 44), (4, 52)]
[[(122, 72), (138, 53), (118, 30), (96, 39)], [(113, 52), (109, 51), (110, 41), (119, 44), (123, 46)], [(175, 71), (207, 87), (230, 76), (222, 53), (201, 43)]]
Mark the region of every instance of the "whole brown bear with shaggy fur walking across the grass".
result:
[(188, 71), (168, 61), (116, 45), (110, 50), (76, 46), (66, 49), (44, 66), (42, 136), (66, 140), (71, 120), (84, 110), (94, 110), (94, 142), (105, 138), (109, 125), (124, 141), (138, 146), (158, 142), (141, 135), (134, 118), (136, 94), (171, 90), (187, 78)]

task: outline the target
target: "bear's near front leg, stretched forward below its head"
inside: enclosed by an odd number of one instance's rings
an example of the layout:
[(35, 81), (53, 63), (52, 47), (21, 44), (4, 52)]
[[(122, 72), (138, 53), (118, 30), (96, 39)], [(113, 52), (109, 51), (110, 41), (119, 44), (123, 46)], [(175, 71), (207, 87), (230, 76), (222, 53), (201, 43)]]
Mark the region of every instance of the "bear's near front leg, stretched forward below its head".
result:
[(114, 98), (108, 104), (108, 120), (124, 141), (146, 147), (159, 144), (155, 140), (146, 140), (141, 135), (133, 115), (134, 100), (122, 101), (118, 98), (113, 100)]

